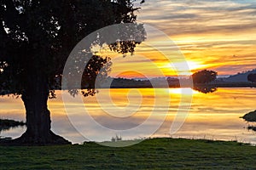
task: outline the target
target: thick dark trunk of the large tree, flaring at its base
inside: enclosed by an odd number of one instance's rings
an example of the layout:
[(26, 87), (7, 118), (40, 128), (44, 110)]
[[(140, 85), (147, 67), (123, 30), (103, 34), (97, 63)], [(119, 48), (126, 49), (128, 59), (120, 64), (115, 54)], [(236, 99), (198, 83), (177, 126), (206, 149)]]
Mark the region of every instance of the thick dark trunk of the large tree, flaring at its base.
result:
[(26, 108), (26, 132), (14, 139), (14, 144), (71, 144), (50, 130), (47, 106), (49, 85), (47, 77), (32, 73), (27, 75), (26, 89), (21, 99)]

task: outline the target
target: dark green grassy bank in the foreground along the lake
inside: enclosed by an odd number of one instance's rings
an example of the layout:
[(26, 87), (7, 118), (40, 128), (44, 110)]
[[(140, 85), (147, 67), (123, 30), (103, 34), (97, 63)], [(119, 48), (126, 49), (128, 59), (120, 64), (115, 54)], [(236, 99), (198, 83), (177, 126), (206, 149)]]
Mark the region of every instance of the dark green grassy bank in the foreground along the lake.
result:
[(256, 147), (236, 142), (147, 139), (124, 148), (93, 142), (0, 146), (0, 169), (255, 169)]

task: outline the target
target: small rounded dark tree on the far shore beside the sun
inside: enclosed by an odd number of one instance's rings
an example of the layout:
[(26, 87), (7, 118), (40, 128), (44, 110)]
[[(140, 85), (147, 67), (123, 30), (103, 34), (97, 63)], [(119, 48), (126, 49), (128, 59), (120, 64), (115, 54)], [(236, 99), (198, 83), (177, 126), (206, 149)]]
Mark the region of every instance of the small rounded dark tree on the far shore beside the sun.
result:
[(217, 75), (218, 74), (216, 71), (203, 70), (203, 71), (195, 72), (192, 75), (192, 79), (194, 83), (208, 83), (208, 82), (214, 81)]

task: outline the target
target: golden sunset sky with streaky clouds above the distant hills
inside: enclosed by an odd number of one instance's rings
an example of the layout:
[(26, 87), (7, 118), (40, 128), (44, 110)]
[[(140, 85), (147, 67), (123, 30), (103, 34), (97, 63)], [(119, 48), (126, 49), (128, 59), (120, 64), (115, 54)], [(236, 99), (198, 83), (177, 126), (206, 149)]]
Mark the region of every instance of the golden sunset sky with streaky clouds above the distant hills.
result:
[[(170, 62), (160, 51), (142, 44), (134, 56), (113, 59), (111, 76), (189, 75), (203, 69), (232, 75), (256, 68), (256, 1), (147, 0), (137, 6), (141, 7), (137, 21), (163, 31), (177, 45), (189, 71), (175, 66), (184, 62), (175, 54), (170, 54)], [(162, 47), (173, 51), (169, 42), (162, 41)]]

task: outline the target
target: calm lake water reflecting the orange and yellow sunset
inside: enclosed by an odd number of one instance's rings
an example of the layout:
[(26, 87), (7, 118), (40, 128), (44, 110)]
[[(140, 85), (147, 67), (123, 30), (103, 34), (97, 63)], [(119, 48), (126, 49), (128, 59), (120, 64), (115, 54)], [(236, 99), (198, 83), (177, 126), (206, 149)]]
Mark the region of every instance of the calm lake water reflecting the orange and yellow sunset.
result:
[[(109, 92), (101, 89), (96, 96), (85, 99), (70, 98), (64, 93), (66, 111), (61, 91), (58, 91), (57, 99), (49, 101), (52, 130), (73, 143), (86, 139), (110, 140), (116, 134), (123, 139), (139, 139), (157, 130), (154, 137), (224, 139), (256, 144), (256, 133), (248, 131), (248, 123), (239, 118), (256, 110), (255, 88), (218, 88), (212, 94), (193, 91), (191, 107), (189, 98), (182, 100), (189, 96), (189, 92), (189, 89), (181, 88), (119, 88)], [(187, 111), (189, 115), (183, 126), (170, 135), (173, 119), (177, 115), (183, 118)], [(25, 121), (21, 99), (0, 98), (0, 118)], [(182, 119), (176, 121), (177, 124), (181, 122)], [(111, 131), (105, 132), (104, 129)], [(25, 130), (18, 127), (3, 131), (0, 136), (15, 138)]]

